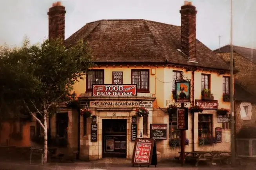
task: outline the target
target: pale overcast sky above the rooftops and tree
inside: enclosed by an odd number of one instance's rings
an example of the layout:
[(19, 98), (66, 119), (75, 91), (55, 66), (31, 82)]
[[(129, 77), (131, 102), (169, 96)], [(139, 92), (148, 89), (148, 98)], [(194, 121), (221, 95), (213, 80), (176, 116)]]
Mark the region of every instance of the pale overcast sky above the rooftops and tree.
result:
[[(230, 44), (231, 0), (191, 0), (196, 6), (196, 37), (214, 50)], [(56, 0), (0, 0), (0, 45), (48, 38), (47, 11)], [(256, 0), (233, 0), (233, 45), (256, 49)], [(184, 0), (62, 0), (65, 39), (88, 22), (145, 19), (181, 25)], [(219, 38), (220, 36), (220, 38)], [(219, 42), (220, 40), (220, 42)]]

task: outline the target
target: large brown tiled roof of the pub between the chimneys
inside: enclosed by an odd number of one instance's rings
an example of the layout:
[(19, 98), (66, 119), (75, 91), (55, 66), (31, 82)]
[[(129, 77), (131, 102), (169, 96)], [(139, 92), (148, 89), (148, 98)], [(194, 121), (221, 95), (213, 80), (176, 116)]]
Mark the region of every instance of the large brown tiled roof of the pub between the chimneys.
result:
[(87, 23), (71, 35), (68, 47), (87, 40), (95, 62), (169, 62), (229, 70), (229, 65), (203, 43), (196, 42), (198, 63), (187, 60), (182, 52), (180, 26), (148, 20), (99, 20)]

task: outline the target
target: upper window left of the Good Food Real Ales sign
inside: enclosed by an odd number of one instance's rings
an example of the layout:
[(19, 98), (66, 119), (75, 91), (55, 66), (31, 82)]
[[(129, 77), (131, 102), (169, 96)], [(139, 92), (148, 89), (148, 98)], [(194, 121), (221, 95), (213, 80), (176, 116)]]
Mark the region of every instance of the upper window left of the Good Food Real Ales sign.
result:
[(104, 84), (104, 70), (87, 71), (86, 91), (92, 90), (93, 84)]

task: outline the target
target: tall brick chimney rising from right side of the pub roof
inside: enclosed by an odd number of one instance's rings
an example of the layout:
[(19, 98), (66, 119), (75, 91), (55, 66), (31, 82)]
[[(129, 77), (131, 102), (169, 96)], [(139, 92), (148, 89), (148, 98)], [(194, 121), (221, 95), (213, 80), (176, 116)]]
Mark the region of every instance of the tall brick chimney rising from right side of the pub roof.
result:
[(196, 7), (185, 1), (181, 13), (181, 50), (189, 61), (196, 61)]

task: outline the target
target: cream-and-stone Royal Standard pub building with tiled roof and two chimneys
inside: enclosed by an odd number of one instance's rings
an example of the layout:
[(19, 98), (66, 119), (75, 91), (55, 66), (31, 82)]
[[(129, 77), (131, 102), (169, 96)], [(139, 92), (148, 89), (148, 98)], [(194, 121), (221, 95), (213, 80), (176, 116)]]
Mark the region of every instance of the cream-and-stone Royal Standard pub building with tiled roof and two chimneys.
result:
[[(64, 25), (72, 24), (65, 23), (65, 13), (60, 2), (49, 9), (49, 38), (65, 40)], [(171, 159), (180, 151), (178, 127), (184, 125), (186, 151), (229, 151), (229, 123), (221, 119), (229, 116), (225, 109), (230, 101), (223, 98), (229, 96), (229, 64), (196, 40), (197, 11), (191, 2), (185, 1), (177, 13), (181, 26), (143, 19), (98, 20), (65, 40), (68, 49), (84, 38), (96, 66), (74, 85), (75, 99), (92, 118), (62, 103), (49, 120), (51, 137), (67, 129), (67, 149), (62, 152), (78, 153), (82, 160), (131, 159), (134, 140), (144, 137), (156, 140), (158, 160)], [(180, 81), (184, 83), (177, 89)], [(180, 106), (178, 98), (189, 108), (187, 120), (177, 119), (172, 110)]]

